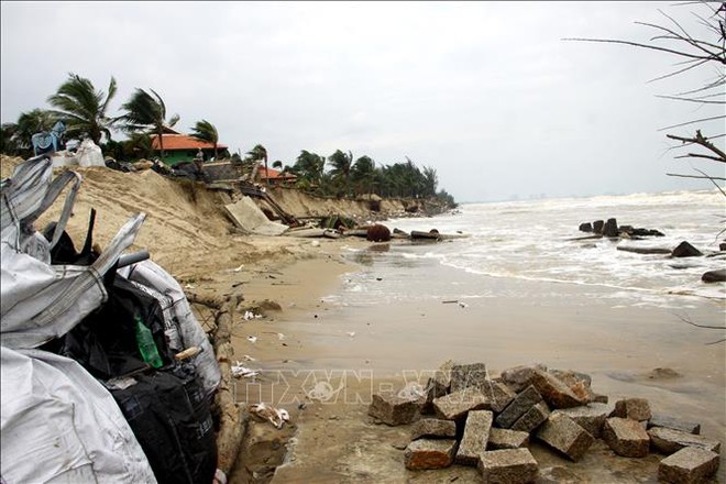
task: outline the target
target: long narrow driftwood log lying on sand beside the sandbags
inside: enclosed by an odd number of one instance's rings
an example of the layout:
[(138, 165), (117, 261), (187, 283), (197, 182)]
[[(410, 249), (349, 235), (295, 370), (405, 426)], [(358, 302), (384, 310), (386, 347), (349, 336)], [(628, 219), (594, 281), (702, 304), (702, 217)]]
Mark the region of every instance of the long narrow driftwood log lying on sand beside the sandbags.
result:
[(220, 415), (219, 433), (217, 435), (217, 466), (227, 475), (234, 468), (250, 419), (246, 407), (237, 405), (232, 392), (231, 366), (234, 350), (230, 337), (232, 334), (234, 308), (238, 304), (239, 296), (232, 295), (224, 302), (221, 312), (218, 314), (213, 344), (217, 363), (222, 374), (219, 388), (215, 395), (215, 405)]

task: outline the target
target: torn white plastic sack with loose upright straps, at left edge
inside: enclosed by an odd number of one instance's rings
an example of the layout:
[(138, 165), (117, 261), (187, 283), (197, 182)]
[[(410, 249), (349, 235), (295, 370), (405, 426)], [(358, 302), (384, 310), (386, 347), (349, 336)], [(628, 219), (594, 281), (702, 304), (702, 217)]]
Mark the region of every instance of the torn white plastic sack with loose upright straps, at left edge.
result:
[[(89, 266), (53, 265), (51, 251), (70, 217), (80, 177), (65, 172), (53, 182), (47, 157), (28, 160), (0, 186), (0, 343), (36, 348), (68, 332), (107, 299), (106, 274), (129, 248), (145, 215), (131, 218)], [(33, 223), (74, 182), (48, 242)]]

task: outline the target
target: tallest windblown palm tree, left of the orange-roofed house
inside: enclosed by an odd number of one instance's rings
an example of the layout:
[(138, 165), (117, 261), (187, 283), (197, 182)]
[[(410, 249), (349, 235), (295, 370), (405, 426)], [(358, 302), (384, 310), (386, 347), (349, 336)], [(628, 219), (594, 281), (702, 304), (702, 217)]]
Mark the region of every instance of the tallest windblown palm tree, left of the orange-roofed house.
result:
[(90, 138), (94, 143), (100, 144), (101, 134), (111, 139), (109, 128), (113, 120), (106, 116), (109, 101), (116, 95), (116, 79), (111, 77), (107, 94), (97, 91), (90, 80), (68, 74), (68, 79), (61, 85), (58, 91), (47, 100), (57, 111), (54, 114), (66, 123), (68, 136), (80, 135)]

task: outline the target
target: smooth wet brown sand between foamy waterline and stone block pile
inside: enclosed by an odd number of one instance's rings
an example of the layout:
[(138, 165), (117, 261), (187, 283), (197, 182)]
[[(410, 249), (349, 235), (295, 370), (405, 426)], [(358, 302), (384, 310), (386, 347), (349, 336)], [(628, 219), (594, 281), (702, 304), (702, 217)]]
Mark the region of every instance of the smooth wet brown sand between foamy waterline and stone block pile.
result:
[[(648, 398), (654, 413), (701, 422), (702, 435), (725, 440), (726, 344), (707, 344), (723, 332), (681, 320), (718, 324), (725, 309), (721, 301), (672, 296), (667, 308), (632, 306), (603, 287), (482, 277), (439, 265), (408, 272), (375, 263), (356, 267), (345, 265), (334, 245), (322, 265), (304, 261), (273, 274), (271, 280), (284, 284), (268, 280), (253, 289), (251, 283), (245, 298), (270, 290), (271, 299), (282, 300), (283, 311), (235, 330), (237, 354), (256, 358), (250, 365), (264, 371), (254, 385), (240, 382), (240, 399), (274, 402), (293, 414), (292, 461), (277, 470), (274, 482), (474, 479), (466, 469), (406, 471), (403, 452), (392, 446), (400, 447), (407, 429), (376, 426), (365, 415), (372, 392), (402, 388), (413, 380), (425, 383), (448, 359), (484, 362), (492, 376), (534, 362), (584, 372), (595, 392), (610, 402)], [(352, 270), (367, 271), (370, 284), (381, 284), (380, 304), (345, 299), (343, 286), (351, 277), (345, 273)], [(413, 286), (426, 277), (448, 289), (415, 297)], [(402, 282), (411, 285), (411, 300), (387, 300), (386, 294), (395, 290), (386, 284), (399, 287)], [(455, 294), (464, 296), (453, 299), (462, 305), (449, 302)], [(244, 339), (253, 333), (258, 336), (254, 344)], [(338, 393), (326, 402), (311, 400), (316, 388)], [(584, 482), (656, 482), (656, 455), (632, 462), (594, 448), (592, 455), (572, 464), (535, 451), (540, 468), (564, 465)], [(723, 460), (721, 482), (726, 476)]]

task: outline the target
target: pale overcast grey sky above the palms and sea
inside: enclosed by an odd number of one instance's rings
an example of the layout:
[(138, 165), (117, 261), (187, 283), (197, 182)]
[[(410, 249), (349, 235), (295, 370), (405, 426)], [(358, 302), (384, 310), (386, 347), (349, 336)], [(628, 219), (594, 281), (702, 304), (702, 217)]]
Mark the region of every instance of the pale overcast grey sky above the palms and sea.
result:
[[(668, 74), (672, 55), (635, 22), (670, 2), (1, 2), (0, 120), (48, 108), (68, 73), (154, 89), (176, 125), (206, 119), (230, 151), (270, 160), (336, 150), (437, 170), (457, 201), (708, 189), (716, 163), (675, 160), (664, 127), (724, 113), (657, 98), (702, 86), (714, 67)], [(684, 20), (683, 20), (684, 19)], [(722, 67), (723, 69), (723, 67)], [(723, 134), (723, 120), (700, 125)], [(686, 135), (689, 127), (669, 132)], [(118, 139), (123, 135), (117, 134)], [(724, 146), (724, 139), (717, 140)], [(721, 173), (719, 173), (721, 170)]]

